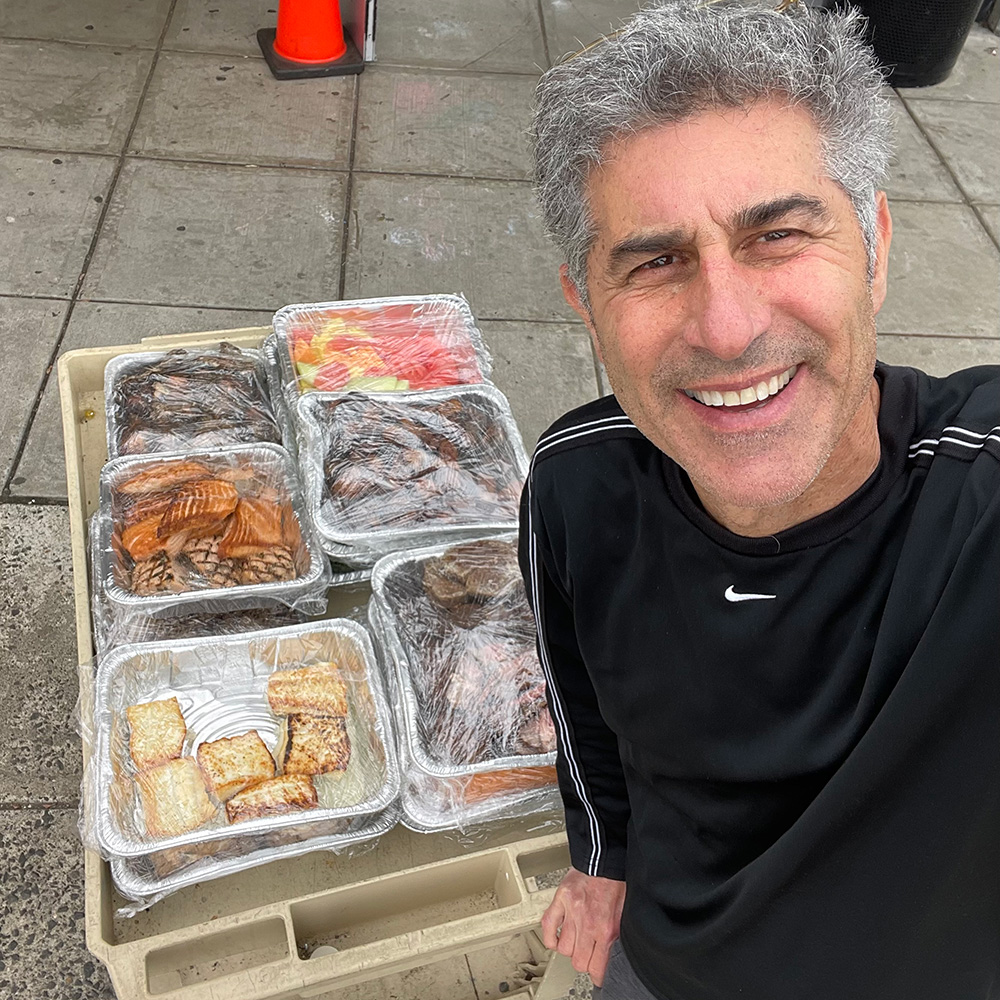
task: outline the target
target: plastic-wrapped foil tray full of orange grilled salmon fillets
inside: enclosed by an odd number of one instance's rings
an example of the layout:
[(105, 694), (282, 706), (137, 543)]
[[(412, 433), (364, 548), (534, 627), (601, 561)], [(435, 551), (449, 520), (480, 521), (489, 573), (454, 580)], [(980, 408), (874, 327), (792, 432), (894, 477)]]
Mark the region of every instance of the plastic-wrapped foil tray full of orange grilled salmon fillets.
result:
[(294, 464), (274, 444), (109, 462), (97, 558), (118, 613), (326, 606), (326, 557)]

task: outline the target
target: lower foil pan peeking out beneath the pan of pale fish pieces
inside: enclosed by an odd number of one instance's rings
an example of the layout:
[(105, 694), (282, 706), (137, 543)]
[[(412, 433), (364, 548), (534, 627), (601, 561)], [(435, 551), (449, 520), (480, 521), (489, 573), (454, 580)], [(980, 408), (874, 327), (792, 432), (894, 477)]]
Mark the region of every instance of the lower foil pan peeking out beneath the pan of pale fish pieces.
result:
[[(139, 858), (116, 857), (111, 859), (111, 877), (122, 895), (133, 900), (151, 901), (196, 882), (233, 875), (271, 861), (295, 858), (312, 851), (350, 850), (357, 844), (388, 833), (398, 819), (398, 807), (390, 806), (371, 818), (356, 821), (356, 831), (347, 829), (336, 832), (343, 826), (343, 820), (329, 820), (312, 827), (296, 826), (255, 837), (234, 837), (231, 838), (234, 843), (228, 853), (195, 856), (194, 860), (184, 852), (184, 848)], [(326, 828), (331, 832), (324, 834)]]

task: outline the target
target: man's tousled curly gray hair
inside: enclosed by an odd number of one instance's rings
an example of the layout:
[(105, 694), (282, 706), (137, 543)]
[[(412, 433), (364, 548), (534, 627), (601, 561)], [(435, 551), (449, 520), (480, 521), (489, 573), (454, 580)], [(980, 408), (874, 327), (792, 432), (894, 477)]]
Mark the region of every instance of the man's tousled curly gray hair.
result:
[(596, 238), (586, 185), (608, 144), (775, 96), (811, 113), (827, 173), (857, 214), (871, 280), (875, 194), (888, 175), (892, 118), (863, 26), (853, 8), (661, 0), (542, 77), (531, 130), (535, 186), (546, 229), (565, 253), (585, 306)]

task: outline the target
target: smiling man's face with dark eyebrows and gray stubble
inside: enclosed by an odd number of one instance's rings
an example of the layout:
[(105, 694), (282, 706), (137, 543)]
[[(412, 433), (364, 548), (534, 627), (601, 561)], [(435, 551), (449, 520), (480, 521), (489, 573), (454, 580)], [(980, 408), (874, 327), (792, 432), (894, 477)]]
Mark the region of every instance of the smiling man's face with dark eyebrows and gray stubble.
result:
[(790, 502), (872, 385), (884, 195), (870, 284), (857, 218), (803, 109), (706, 112), (610, 152), (588, 185), (590, 313), (565, 270), (563, 287), (616, 396), (703, 496)]

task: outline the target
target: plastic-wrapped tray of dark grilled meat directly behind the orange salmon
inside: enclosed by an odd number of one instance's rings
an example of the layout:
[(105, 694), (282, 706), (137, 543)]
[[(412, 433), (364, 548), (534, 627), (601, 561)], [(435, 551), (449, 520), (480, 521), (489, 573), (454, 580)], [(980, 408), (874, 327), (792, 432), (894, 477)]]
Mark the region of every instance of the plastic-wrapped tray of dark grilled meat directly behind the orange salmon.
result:
[(281, 443), (260, 351), (122, 354), (104, 372), (108, 455)]

